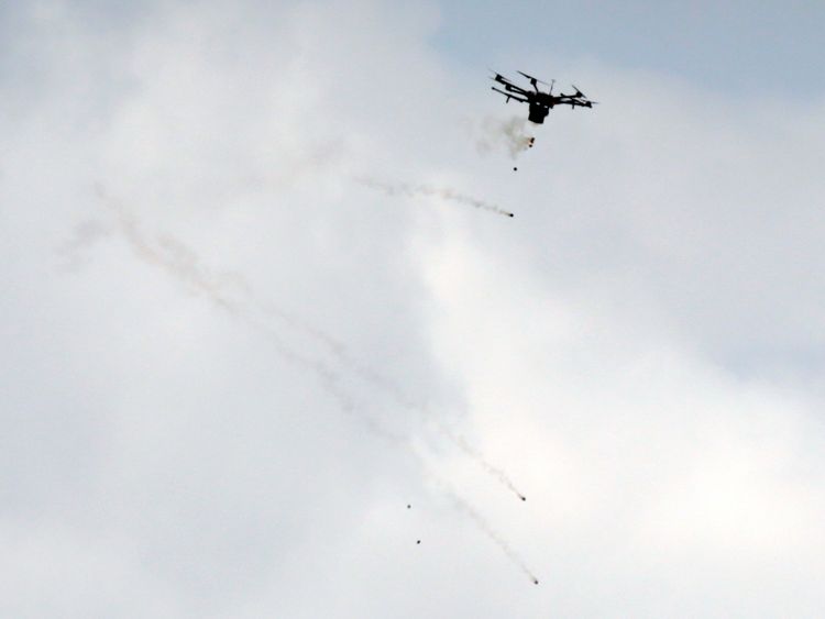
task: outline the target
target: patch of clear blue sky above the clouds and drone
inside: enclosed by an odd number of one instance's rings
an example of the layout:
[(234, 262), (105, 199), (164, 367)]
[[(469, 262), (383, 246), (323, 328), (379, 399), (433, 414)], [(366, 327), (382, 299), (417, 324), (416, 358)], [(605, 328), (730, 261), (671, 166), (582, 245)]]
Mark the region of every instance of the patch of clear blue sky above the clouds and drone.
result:
[(667, 74), (741, 99), (823, 93), (821, 2), (460, 0), (444, 3), (441, 15), (433, 41), (468, 65), (491, 51), (517, 62), (542, 49)]

